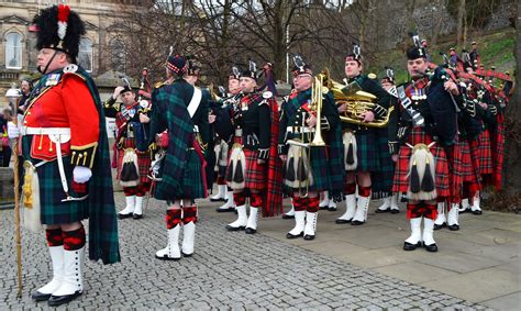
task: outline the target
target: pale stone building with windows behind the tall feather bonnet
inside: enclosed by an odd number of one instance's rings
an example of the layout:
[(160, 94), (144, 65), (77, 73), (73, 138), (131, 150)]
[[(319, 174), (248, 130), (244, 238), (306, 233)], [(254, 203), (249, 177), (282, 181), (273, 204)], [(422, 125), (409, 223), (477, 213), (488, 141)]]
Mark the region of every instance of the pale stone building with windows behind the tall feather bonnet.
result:
[[(11, 82), (37, 77), (36, 37), (31, 27), (38, 10), (58, 1), (0, 0), (0, 107), (7, 104), (3, 97)], [(68, 0), (67, 4), (79, 13), (87, 34), (81, 40), (78, 63), (96, 78), (108, 71), (125, 71), (122, 33), (113, 26), (115, 19), (128, 11), (138, 9), (146, 0)], [(106, 75), (107, 76), (107, 75)], [(119, 74), (112, 76), (118, 77)], [(107, 86), (115, 81), (103, 79)], [(103, 88), (103, 86), (100, 86)]]

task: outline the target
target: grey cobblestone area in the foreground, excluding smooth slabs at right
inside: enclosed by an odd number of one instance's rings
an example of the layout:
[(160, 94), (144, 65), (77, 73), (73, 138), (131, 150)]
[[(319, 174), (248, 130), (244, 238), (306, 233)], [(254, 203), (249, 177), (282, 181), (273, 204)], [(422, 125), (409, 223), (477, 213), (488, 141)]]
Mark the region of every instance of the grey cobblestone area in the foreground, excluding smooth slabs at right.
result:
[[(123, 196), (117, 195), (119, 209)], [(208, 201), (201, 209), (213, 209)], [(203, 213), (196, 254), (154, 258), (166, 245), (163, 203), (145, 218), (120, 221), (122, 262), (85, 267), (86, 292), (67, 308), (98, 309), (485, 309), (485, 307), (286, 244), (263, 234), (229, 233)], [(31, 292), (51, 277), (43, 234), (23, 235), (23, 295), (16, 298), (13, 211), (0, 211), (0, 310), (48, 309)], [(59, 309), (65, 310), (66, 307)]]

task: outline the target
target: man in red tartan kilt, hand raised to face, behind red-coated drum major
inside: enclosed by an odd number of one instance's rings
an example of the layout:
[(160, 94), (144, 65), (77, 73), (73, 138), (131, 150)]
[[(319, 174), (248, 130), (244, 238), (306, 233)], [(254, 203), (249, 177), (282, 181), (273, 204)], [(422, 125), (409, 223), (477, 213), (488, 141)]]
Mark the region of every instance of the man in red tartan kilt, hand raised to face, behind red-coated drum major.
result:
[[(117, 102), (121, 97), (122, 102)], [(129, 85), (117, 87), (103, 105), (107, 116), (115, 118), (118, 133), (113, 146), (117, 179), (125, 193), (125, 208), (119, 212), (120, 219), (143, 218), (143, 199), (151, 187), (148, 170), (151, 152), (148, 141), (148, 111), (135, 100)]]

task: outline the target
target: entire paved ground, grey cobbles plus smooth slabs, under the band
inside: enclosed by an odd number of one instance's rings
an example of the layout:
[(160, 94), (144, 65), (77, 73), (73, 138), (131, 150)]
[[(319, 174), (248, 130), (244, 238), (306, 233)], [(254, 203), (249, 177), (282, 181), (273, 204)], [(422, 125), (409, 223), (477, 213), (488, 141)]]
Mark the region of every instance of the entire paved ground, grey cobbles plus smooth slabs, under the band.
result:
[[(117, 200), (121, 209), (121, 193)], [(466, 310), (489, 307), (506, 310), (507, 300), (497, 306), (476, 303), (487, 302), (488, 297), (505, 292), (505, 288), (513, 295), (505, 299), (510, 299), (511, 306), (519, 302), (520, 218), (517, 215), (507, 216), (513, 219), (508, 223), (503, 223), (502, 215), (492, 213), (492, 220), (486, 215), (468, 220), (468, 230), (472, 222), (487, 224), (476, 230), (476, 234), (440, 233), (436, 236), (441, 252), (433, 255), (422, 249), (412, 253), (400, 249), (408, 235), (401, 220), (403, 213), (369, 215), (369, 224), (353, 227), (332, 223), (341, 211), (321, 212), (318, 238), (309, 243), (286, 240), (292, 221), (279, 218), (262, 220), (260, 234), (253, 236), (225, 232), (225, 223), (234, 215), (215, 213), (215, 206), (200, 203), (196, 254), (179, 262), (154, 258), (154, 253), (166, 243), (163, 204), (152, 200), (144, 219), (121, 221), (122, 263), (106, 267), (87, 263), (86, 293), (68, 308)], [(499, 233), (490, 222), (517, 231), (517, 241), (510, 241), (509, 234), (499, 240), (492, 237)], [(24, 289), (22, 299), (18, 299), (12, 227), (13, 211), (0, 211), (0, 310), (47, 309), (45, 303), (35, 303), (30, 298), (31, 291), (49, 277), (43, 234), (23, 236)], [(473, 238), (474, 242), (468, 241)], [(494, 241), (502, 246), (488, 245)], [(479, 247), (475, 247), (474, 254), (459, 255), (461, 243)], [(503, 245), (509, 243), (514, 244), (506, 253)], [(491, 263), (488, 257), (495, 256), (499, 258)], [(459, 275), (469, 278), (458, 279)], [(488, 282), (490, 288), (484, 289)], [(481, 296), (481, 300), (453, 291), (446, 288), (447, 284), (469, 292), (477, 290), (476, 296)], [(483, 293), (490, 290), (492, 293), (488, 296)]]

